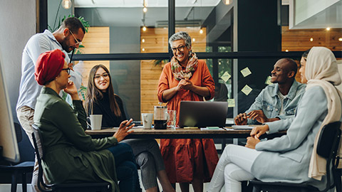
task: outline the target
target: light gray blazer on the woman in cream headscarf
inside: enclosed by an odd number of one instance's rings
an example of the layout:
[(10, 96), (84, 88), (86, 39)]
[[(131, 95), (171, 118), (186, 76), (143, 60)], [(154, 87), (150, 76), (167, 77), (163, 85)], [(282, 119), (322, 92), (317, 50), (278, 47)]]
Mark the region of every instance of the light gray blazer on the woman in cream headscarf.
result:
[(318, 129), (328, 114), (326, 94), (316, 86), (304, 93), (296, 117), (269, 124), (270, 132), (289, 126), (286, 135), (259, 142), (257, 151), (263, 151), (252, 165), (252, 174), (261, 181), (302, 183), (323, 189), (326, 177), (317, 181), (308, 177), (309, 163)]

